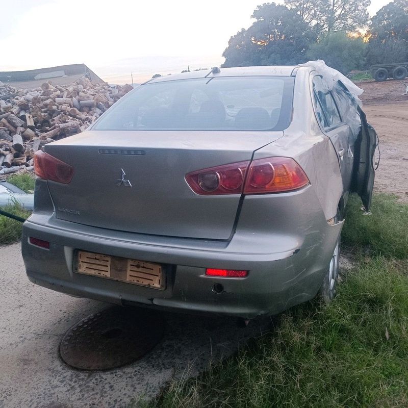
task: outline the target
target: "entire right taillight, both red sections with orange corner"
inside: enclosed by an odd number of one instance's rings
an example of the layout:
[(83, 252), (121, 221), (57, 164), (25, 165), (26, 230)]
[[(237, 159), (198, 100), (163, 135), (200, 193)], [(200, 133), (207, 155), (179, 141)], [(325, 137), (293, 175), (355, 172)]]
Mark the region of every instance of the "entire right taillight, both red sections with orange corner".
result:
[(289, 157), (270, 157), (249, 163), (194, 171), (186, 175), (186, 181), (200, 195), (278, 193), (309, 184), (302, 168)]

